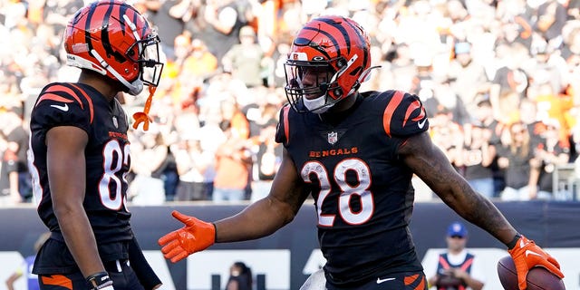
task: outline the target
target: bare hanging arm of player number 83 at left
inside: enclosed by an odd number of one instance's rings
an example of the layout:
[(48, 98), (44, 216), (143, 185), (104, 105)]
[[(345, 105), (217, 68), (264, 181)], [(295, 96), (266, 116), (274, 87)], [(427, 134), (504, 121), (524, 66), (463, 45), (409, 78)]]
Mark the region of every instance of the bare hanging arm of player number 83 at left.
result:
[(53, 127), (45, 140), (54, 215), (66, 246), (85, 277), (105, 272), (82, 207), (86, 182), (84, 149), (88, 140), (86, 131), (73, 126)]

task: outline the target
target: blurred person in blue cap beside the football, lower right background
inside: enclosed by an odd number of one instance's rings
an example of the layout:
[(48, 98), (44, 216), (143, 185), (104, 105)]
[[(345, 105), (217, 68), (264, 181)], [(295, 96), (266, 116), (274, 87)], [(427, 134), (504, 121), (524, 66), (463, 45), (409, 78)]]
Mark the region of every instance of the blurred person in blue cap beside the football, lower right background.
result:
[[(447, 228), (447, 251), (441, 253), (437, 271), (428, 273), (428, 284), (437, 290), (481, 290), (485, 285), (485, 276), (478, 258), (467, 249), (468, 229), (460, 222), (454, 222)], [(430, 267), (426, 267), (430, 268)]]

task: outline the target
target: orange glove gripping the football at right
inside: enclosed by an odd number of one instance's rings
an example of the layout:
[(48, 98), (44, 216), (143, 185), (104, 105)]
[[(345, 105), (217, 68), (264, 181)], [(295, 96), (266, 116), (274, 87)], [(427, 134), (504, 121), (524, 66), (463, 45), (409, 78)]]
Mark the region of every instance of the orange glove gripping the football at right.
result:
[(560, 279), (564, 274), (560, 271), (560, 264), (553, 256), (547, 254), (541, 247), (537, 247), (533, 240), (521, 236), (517, 239), (516, 246), (507, 250), (516, 265), (517, 285), (520, 290), (527, 288), (526, 275), (529, 269), (535, 266), (543, 266), (552, 274), (557, 275)]

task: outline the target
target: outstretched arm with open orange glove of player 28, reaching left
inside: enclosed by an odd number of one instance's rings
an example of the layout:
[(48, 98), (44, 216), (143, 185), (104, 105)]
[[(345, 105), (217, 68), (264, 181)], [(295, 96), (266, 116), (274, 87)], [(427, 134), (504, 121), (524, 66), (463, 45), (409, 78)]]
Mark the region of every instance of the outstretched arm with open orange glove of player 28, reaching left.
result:
[(160, 238), (161, 252), (176, 263), (216, 242), (266, 237), (292, 221), (307, 196), (295, 163), (284, 150), (282, 164), (266, 198), (256, 201), (235, 216), (213, 224), (174, 211), (173, 217), (178, 218), (185, 227)]

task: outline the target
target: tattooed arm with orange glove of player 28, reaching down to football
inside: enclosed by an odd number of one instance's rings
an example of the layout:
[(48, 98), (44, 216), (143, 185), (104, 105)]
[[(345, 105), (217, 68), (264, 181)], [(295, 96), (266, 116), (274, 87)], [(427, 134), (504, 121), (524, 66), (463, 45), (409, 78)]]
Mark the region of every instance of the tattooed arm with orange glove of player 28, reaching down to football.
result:
[[(451, 167), (443, 152), (431, 142), (428, 133), (413, 135), (402, 142), (399, 155), (449, 208), (507, 245), (516, 264), (520, 289), (526, 288), (527, 271), (534, 266), (546, 267), (560, 278), (564, 277), (554, 257), (537, 247), (533, 240), (519, 235), (488, 198), (471, 189), (469, 183)], [(524, 255), (530, 251), (536, 255)]]

